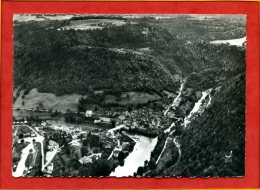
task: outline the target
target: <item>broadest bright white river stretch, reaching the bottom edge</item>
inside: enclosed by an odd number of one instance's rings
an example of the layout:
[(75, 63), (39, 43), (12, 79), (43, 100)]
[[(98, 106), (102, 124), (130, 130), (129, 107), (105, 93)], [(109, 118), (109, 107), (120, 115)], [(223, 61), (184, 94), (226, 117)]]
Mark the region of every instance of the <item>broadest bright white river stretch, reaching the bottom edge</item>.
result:
[(139, 166), (144, 166), (145, 160), (149, 161), (151, 152), (157, 144), (158, 138), (149, 138), (142, 135), (130, 135), (135, 141), (134, 150), (126, 157), (124, 166), (118, 166), (114, 172), (110, 174), (113, 177), (133, 176)]

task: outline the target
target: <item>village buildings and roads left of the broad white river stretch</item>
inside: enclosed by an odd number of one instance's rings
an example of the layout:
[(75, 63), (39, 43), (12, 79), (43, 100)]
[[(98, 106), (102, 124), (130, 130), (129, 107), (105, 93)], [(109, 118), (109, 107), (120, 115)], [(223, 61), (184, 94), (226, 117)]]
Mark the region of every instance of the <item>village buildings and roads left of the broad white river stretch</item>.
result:
[(82, 167), (98, 160), (112, 172), (123, 165), (135, 145), (125, 132), (156, 137), (170, 125), (161, 111), (151, 108), (86, 110), (84, 117), (87, 122), (80, 125), (46, 119), (14, 120), (14, 176), (77, 176)]

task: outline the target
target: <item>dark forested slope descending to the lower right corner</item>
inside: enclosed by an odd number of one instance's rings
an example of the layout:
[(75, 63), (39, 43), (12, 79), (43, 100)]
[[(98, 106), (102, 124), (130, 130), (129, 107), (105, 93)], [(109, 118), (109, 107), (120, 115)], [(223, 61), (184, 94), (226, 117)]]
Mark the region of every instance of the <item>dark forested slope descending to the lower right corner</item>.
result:
[[(243, 176), (245, 75), (219, 88), (212, 104), (180, 137), (182, 156), (163, 176)], [(232, 151), (232, 158), (227, 160)]]

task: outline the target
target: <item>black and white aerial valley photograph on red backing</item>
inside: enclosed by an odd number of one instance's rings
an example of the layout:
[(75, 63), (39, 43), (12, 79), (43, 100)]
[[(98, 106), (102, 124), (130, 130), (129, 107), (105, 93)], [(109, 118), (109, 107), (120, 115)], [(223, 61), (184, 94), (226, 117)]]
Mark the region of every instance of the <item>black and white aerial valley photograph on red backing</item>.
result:
[(14, 14), (13, 177), (244, 177), (246, 16)]

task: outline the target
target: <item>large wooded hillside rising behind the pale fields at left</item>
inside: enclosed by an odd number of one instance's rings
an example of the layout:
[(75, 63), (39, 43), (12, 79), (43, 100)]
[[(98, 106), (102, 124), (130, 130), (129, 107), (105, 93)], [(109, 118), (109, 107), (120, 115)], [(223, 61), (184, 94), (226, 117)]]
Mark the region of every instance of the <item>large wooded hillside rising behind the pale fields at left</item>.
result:
[[(40, 92), (56, 95), (86, 94), (93, 89), (160, 91), (174, 87), (171, 73), (149, 55), (149, 47), (160, 40), (154, 37), (153, 33), (159, 35), (156, 29), (146, 41), (142, 25), (90, 31), (28, 25), (32, 27), (15, 26), (15, 87), (37, 87)], [(170, 37), (166, 33), (160, 38), (165, 41)], [(147, 46), (147, 52), (140, 50)]]

